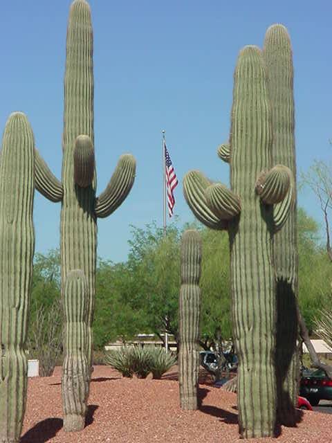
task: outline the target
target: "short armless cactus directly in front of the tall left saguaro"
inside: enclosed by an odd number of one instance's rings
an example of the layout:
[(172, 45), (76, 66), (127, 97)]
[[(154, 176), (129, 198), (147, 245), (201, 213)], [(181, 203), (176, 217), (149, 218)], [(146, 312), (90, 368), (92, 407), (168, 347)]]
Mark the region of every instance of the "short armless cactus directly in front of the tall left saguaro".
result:
[(75, 431), (78, 416), (84, 427), (86, 400), (89, 395), (89, 364), (86, 358), (87, 284), (83, 271), (67, 274), (64, 285), (64, 352), (62, 399), (66, 431)]

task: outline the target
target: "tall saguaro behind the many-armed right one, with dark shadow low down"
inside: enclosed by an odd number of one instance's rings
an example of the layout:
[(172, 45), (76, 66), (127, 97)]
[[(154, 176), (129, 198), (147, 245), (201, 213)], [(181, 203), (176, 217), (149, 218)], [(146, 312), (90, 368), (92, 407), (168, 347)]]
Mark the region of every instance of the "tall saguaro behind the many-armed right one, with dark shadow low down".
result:
[(273, 257), (277, 278), (277, 413), (279, 422), (294, 425), (298, 395), (297, 322), (297, 204), (295, 167), (295, 118), (293, 91), (293, 57), (286, 28), (270, 26), (264, 42), (268, 69), (268, 93), (272, 105), (272, 158), (292, 172), (286, 204), (289, 214), (284, 226), (275, 233)]

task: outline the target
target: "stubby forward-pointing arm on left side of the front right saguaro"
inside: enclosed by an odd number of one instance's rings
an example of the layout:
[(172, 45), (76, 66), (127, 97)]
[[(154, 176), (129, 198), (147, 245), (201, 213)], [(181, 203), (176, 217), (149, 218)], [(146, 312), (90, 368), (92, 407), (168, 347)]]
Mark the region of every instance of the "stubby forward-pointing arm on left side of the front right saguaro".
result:
[(241, 212), (239, 197), (222, 183), (208, 186), (205, 197), (212, 213), (221, 220), (232, 220)]

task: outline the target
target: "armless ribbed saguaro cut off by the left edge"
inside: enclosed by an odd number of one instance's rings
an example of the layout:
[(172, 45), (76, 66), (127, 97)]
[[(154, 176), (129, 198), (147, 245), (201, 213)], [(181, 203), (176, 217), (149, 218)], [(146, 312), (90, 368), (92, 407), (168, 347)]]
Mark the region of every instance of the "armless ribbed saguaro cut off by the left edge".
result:
[(26, 409), (24, 343), (33, 275), (34, 138), (15, 112), (3, 134), (0, 161), (0, 442), (19, 442)]

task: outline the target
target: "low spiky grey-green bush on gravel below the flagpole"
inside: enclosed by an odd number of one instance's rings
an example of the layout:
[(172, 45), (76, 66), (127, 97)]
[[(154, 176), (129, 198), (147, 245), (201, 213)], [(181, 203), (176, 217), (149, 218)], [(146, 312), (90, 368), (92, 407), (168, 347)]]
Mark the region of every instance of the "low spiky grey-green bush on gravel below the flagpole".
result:
[(106, 354), (107, 364), (121, 372), (123, 377), (145, 379), (152, 372), (154, 379), (160, 379), (164, 372), (176, 362), (176, 357), (164, 348), (155, 346), (122, 346)]

